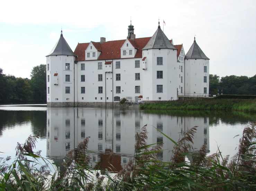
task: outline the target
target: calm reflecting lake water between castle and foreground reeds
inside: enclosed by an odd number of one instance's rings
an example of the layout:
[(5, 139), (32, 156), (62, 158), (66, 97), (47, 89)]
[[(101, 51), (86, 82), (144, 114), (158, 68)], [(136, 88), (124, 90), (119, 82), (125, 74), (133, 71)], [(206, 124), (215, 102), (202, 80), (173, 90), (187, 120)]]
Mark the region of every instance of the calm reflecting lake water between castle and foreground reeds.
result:
[(240, 138), (235, 136), (241, 135), (250, 121), (256, 121), (254, 113), (0, 106), (0, 157), (14, 158), (17, 142), (23, 143), (30, 134), (39, 134), (36, 150), (60, 164), (69, 150), (90, 137), (91, 160), (105, 169), (109, 154), (115, 152), (114, 166), (120, 170), (133, 159), (135, 133), (145, 124), (148, 144), (164, 142), (159, 160), (170, 160), (169, 151), (174, 144), (154, 127), (178, 141), (182, 132), (198, 126), (194, 150), (205, 143), (209, 154), (217, 152), (219, 146), (223, 155), (233, 156)]

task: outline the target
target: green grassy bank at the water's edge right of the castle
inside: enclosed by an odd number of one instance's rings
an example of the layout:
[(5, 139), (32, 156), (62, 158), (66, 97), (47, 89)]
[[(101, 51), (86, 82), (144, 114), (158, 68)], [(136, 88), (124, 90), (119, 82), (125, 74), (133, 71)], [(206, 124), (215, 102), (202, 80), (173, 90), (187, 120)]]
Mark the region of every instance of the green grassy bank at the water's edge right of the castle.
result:
[(144, 103), (140, 109), (235, 110), (256, 112), (256, 100), (198, 99)]

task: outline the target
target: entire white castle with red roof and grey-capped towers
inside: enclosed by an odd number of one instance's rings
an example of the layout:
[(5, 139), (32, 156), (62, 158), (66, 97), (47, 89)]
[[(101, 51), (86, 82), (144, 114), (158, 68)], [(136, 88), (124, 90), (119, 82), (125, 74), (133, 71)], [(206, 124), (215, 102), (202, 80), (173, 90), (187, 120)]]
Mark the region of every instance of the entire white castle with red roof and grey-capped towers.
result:
[(46, 56), (47, 106), (114, 106), (131, 102), (176, 100), (178, 95), (209, 92), (209, 58), (195, 41), (185, 54), (161, 30), (125, 40), (78, 43), (73, 52), (60, 39)]

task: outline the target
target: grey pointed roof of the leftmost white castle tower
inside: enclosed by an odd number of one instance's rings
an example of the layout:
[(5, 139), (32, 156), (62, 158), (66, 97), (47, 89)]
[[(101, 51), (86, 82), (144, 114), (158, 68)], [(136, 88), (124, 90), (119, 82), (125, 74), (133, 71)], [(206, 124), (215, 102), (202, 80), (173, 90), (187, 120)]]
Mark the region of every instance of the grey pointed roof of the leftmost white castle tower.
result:
[(76, 56), (76, 54), (74, 54), (74, 52), (69, 47), (67, 41), (64, 39), (63, 34), (62, 34), (62, 30), (61, 30), (60, 39), (55, 44), (52, 51), (49, 54), (47, 54), (47, 56), (50, 56), (50, 55)]

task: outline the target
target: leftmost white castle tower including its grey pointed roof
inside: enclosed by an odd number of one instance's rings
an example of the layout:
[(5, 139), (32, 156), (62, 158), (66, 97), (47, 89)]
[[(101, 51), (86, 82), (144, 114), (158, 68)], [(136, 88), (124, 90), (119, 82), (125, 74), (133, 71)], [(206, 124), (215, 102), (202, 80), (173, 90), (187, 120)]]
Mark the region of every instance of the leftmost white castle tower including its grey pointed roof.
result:
[(62, 30), (60, 39), (46, 56), (47, 106), (73, 106), (76, 80), (74, 78), (76, 54), (65, 41)]

